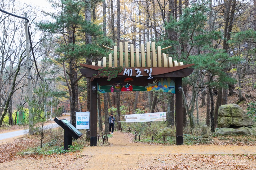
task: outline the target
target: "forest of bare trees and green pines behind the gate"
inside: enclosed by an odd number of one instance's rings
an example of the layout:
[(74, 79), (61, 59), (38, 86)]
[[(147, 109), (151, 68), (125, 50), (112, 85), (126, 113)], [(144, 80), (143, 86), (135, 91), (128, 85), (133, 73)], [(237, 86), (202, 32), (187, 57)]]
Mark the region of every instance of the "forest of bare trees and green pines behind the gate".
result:
[[(50, 3), (54, 12), (16, 1), (0, 3), (15, 15), (28, 13), (35, 54), (30, 60), (32, 87), (47, 87), (52, 94), (33, 93), (33, 99), (55, 101), (40, 105), (42, 112), (69, 112), (75, 125), (73, 111), (90, 111), (90, 83), (80, 74), (79, 63), (102, 61), (111, 53), (103, 45), (119, 48), (128, 41), (140, 48), (155, 41), (172, 46), (164, 53), (173, 60), (195, 63), (193, 74), (183, 79), (183, 126), (207, 124), (214, 132), (219, 106), (231, 102), (249, 108), (255, 119), (255, 0)], [(24, 20), (1, 12), (0, 26), (0, 126), (15, 125), (16, 113), (28, 111)], [(118, 115), (119, 128), (120, 115), (158, 111), (166, 111), (166, 126), (173, 126), (174, 103), (174, 95), (161, 92), (98, 94), (99, 131), (110, 112)]]

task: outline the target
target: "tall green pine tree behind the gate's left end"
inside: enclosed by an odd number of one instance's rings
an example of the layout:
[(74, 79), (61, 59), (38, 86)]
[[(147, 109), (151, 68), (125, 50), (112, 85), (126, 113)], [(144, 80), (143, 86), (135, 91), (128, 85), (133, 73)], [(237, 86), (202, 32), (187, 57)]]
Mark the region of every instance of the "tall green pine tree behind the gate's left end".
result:
[[(91, 12), (88, 3), (91, 2), (60, 0), (52, 5), (55, 9), (59, 9), (59, 12), (50, 14), (53, 21), (38, 23), (41, 30), (57, 35), (55, 41), (58, 43), (58, 48), (55, 52), (60, 56), (59, 62), (63, 63), (64, 74), (67, 73), (65, 79), (70, 95), (70, 123), (74, 126), (75, 111), (78, 111), (77, 82), (83, 77), (78, 72), (79, 63), (104, 56), (105, 49), (102, 48), (102, 44), (110, 46), (112, 43), (108, 37), (103, 36), (99, 25), (85, 20), (85, 8), (87, 12), (88, 10)], [(91, 37), (91, 44), (86, 42), (88, 36)]]

